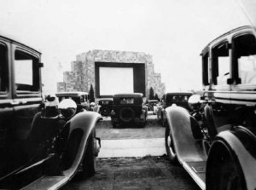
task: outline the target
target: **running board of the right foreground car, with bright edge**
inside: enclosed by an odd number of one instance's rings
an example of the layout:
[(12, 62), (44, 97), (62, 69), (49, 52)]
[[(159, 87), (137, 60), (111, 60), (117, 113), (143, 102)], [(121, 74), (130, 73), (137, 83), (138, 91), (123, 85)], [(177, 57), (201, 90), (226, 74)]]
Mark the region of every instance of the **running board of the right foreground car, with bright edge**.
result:
[(206, 189), (206, 168), (207, 162), (183, 162), (183, 168), (188, 171), (201, 189)]

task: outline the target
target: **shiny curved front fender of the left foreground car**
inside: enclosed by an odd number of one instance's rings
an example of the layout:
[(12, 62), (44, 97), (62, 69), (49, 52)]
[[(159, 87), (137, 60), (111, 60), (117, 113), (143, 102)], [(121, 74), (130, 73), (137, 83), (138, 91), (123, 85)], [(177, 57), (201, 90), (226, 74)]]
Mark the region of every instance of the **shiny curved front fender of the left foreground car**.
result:
[(76, 158), (74, 159), (72, 166), (68, 170), (65, 170), (63, 172), (64, 176), (68, 176), (67, 178), (73, 176), (76, 170), (78, 169), (79, 164), (81, 163), (84, 156), (84, 149), (86, 147), (86, 142), (88, 140), (90, 132), (95, 128), (96, 122), (100, 118), (102, 118), (102, 116), (97, 112), (79, 112), (77, 115), (70, 119), (69, 135), (72, 133), (73, 130), (76, 129), (83, 130), (84, 134), (82, 136), (81, 143), (79, 145), (79, 150), (76, 154)]

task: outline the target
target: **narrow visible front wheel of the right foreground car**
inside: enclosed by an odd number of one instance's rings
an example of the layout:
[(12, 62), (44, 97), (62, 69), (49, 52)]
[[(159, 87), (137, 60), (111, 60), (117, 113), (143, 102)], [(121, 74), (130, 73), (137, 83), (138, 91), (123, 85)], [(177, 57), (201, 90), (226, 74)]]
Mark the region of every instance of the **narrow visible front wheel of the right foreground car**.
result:
[(172, 134), (170, 134), (169, 126), (166, 126), (165, 144), (168, 160), (170, 160), (172, 164), (177, 164), (177, 155), (175, 148), (173, 146), (173, 139)]

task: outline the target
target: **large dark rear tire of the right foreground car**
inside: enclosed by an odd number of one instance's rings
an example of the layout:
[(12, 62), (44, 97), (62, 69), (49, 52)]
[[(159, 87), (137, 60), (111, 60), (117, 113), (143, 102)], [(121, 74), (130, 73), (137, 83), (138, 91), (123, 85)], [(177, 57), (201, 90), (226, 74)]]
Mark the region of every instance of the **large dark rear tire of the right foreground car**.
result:
[(247, 189), (241, 165), (236, 156), (222, 143), (218, 143), (212, 149), (207, 160), (207, 189)]

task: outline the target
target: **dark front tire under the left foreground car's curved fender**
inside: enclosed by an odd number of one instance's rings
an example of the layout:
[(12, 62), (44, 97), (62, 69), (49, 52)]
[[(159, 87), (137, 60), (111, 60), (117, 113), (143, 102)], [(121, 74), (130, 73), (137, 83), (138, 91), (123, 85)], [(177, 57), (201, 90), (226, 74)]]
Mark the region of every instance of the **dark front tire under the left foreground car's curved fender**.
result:
[(96, 131), (92, 130), (90, 136), (87, 140), (87, 146), (84, 154), (83, 160), (83, 176), (90, 177), (94, 176), (96, 173), (96, 155), (94, 153), (94, 141), (95, 141)]

